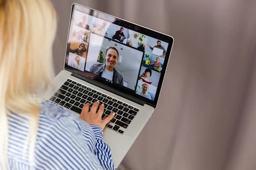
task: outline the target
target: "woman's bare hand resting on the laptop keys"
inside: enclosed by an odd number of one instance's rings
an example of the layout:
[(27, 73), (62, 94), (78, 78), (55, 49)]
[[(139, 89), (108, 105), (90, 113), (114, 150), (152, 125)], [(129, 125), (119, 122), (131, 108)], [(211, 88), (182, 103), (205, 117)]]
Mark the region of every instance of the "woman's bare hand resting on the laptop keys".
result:
[[(99, 107), (99, 110), (97, 112), (97, 109)], [(82, 109), (82, 112), (79, 116), (80, 119), (87, 122), (89, 125), (96, 125), (102, 128), (102, 130), (105, 128), (108, 122), (111, 121), (111, 119), (114, 118), (115, 113), (111, 113), (108, 117), (105, 119), (102, 119), (102, 114), (104, 112), (104, 105), (99, 106), (99, 101), (94, 102), (90, 112), (89, 112), (90, 105), (89, 103), (86, 103)], [(96, 113), (97, 112), (97, 113)]]

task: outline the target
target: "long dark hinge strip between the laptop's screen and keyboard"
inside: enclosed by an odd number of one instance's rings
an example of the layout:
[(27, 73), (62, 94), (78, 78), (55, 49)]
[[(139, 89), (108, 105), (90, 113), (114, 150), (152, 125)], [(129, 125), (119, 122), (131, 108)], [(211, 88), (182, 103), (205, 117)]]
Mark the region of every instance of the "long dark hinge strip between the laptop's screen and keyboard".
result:
[(121, 91), (117, 91), (117, 90), (114, 89), (114, 88), (111, 88), (111, 87), (106, 86), (106, 85), (104, 85), (104, 84), (102, 84), (102, 83), (96, 82), (96, 81), (94, 81), (94, 80), (92, 80), (92, 79), (89, 79), (89, 78), (87, 78), (87, 77), (81, 76), (80, 74), (76, 74), (76, 73), (73, 72), (73, 73), (71, 74), (71, 76), (74, 76), (74, 77), (76, 77), (76, 78), (79, 78), (79, 79), (81, 79), (81, 80), (84, 80), (84, 81), (86, 81), (86, 82), (89, 82), (89, 83), (91, 83), (91, 84), (93, 84), (93, 85), (96, 85), (96, 86), (98, 86), (98, 87), (100, 87), (100, 88), (103, 88), (103, 89), (106, 90), (106, 91), (109, 91), (109, 92), (111, 92), (111, 93), (113, 93), (113, 94), (116, 94), (116, 95), (118, 95), (118, 96), (121, 96), (121, 97), (123, 97), (123, 98), (125, 98), (125, 99), (131, 100), (132, 102), (135, 102), (135, 103), (137, 103), (137, 104), (139, 104), (139, 105), (142, 105), (142, 106), (143, 106), (143, 105), (145, 104), (145, 102), (143, 102), (143, 101), (141, 101), (141, 100), (139, 100), (139, 99), (136, 99), (134, 96), (130, 96), (130, 95), (125, 94), (125, 93), (123, 93), (123, 92), (121, 92)]

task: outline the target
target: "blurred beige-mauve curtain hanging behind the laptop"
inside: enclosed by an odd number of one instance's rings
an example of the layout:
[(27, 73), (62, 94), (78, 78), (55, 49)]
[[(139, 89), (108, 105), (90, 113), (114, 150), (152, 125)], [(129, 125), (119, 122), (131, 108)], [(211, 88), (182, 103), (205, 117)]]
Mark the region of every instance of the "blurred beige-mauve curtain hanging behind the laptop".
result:
[(57, 73), (74, 2), (175, 39), (158, 107), (118, 170), (256, 170), (255, 0), (52, 0)]

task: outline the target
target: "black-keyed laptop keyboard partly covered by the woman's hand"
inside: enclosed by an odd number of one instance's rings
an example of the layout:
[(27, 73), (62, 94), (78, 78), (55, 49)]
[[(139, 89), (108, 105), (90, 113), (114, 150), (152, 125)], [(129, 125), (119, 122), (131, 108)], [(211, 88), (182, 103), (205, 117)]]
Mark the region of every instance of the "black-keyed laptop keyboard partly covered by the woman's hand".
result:
[(106, 94), (102, 94), (99, 91), (81, 85), (71, 79), (67, 79), (50, 100), (79, 114), (85, 103), (89, 103), (90, 108), (96, 101), (99, 101), (100, 105), (104, 103), (105, 109), (102, 114), (102, 119), (111, 113), (116, 113), (106, 127), (120, 134), (125, 132), (139, 111), (139, 109), (134, 106), (114, 99)]

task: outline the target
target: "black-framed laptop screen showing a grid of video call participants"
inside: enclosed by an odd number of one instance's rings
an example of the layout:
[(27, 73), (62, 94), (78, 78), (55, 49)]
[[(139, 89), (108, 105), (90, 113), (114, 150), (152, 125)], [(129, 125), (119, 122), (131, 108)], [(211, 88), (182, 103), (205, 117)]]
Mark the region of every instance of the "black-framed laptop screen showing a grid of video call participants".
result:
[(73, 4), (66, 70), (156, 106), (173, 39)]

